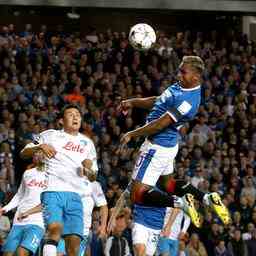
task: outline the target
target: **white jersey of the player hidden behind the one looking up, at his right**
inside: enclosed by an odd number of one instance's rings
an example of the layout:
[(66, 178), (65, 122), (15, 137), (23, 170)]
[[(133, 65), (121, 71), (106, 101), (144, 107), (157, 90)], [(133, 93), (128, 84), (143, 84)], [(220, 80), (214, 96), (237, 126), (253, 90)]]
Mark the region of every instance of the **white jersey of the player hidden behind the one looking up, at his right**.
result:
[(107, 205), (107, 200), (99, 182), (89, 182), (87, 179), (85, 182), (91, 187), (91, 190), (86, 189), (90, 191), (90, 194), (81, 195), (84, 210), (84, 235), (88, 235), (92, 225), (92, 211), (94, 206), (101, 207)]

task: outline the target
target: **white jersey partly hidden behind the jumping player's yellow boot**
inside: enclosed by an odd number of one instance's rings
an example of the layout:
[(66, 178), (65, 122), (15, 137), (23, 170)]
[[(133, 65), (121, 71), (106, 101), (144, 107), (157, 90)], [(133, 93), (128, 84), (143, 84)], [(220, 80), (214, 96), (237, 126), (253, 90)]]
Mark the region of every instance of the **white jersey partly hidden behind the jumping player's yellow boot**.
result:
[[(170, 217), (172, 209), (173, 208), (170, 208), (170, 207), (167, 208), (165, 220), (164, 220), (164, 226), (167, 224), (167, 221)], [(171, 226), (169, 239), (177, 240), (181, 232), (183, 233), (187, 232), (189, 225), (190, 225), (189, 216), (186, 213), (184, 213), (182, 210), (180, 210)]]

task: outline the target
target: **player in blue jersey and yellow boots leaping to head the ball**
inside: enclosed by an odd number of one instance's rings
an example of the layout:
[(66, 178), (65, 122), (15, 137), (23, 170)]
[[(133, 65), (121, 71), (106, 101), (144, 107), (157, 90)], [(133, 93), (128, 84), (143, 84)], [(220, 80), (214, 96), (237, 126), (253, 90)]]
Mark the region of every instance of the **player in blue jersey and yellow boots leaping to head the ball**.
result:
[(133, 107), (152, 109), (146, 124), (126, 133), (122, 147), (137, 137), (146, 137), (140, 148), (133, 172), (131, 199), (134, 203), (153, 207), (174, 207), (173, 197), (152, 189), (157, 182), (170, 193), (183, 196), (183, 209), (199, 227), (200, 216), (194, 207), (194, 197), (217, 213), (224, 224), (230, 216), (217, 193), (204, 194), (185, 181), (170, 178), (178, 152), (179, 129), (197, 114), (201, 101), (201, 77), (204, 63), (198, 56), (185, 56), (179, 66), (178, 82), (159, 97), (134, 98), (122, 101), (120, 109)]

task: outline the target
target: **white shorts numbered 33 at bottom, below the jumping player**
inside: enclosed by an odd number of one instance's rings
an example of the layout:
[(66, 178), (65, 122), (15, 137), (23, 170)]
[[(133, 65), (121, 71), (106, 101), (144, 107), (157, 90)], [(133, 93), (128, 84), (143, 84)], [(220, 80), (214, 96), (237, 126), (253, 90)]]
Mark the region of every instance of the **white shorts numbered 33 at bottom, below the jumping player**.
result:
[(161, 230), (145, 227), (139, 223), (134, 223), (132, 227), (132, 244), (144, 244), (146, 255), (153, 256), (156, 252)]

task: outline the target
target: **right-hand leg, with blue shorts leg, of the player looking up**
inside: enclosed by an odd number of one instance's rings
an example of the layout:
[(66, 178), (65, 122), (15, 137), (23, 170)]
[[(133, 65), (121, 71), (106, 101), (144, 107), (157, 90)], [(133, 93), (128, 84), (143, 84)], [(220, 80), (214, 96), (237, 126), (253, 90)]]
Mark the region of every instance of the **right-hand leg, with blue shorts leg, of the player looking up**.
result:
[(65, 192), (66, 204), (63, 212), (66, 252), (69, 256), (77, 256), (83, 239), (83, 205), (77, 193)]

